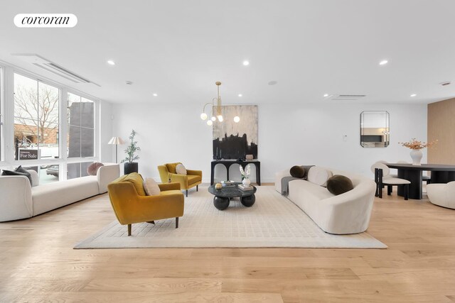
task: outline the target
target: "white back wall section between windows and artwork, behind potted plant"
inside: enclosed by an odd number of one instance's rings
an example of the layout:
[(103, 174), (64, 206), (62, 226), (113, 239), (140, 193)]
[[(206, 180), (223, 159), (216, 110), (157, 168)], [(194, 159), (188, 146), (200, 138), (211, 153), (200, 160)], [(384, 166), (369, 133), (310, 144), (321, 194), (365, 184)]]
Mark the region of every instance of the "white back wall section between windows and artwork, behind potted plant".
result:
[[(210, 180), (212, 128), (200, 120), (199, 106), (113, 104), (113, 133), (129, 143), (132, 129), (137, 131), (139, 172), (159, 179), (157, 166), (183, 162), (186, 168), (203, 170)], [(126, 155), (119, 145), (119, 162)]]

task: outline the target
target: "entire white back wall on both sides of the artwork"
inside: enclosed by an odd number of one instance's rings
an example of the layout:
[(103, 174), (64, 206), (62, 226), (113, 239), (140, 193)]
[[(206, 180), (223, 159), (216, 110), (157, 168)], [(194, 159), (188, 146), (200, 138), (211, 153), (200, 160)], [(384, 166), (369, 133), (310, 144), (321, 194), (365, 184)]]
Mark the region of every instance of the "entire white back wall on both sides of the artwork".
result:
[[(127, 139), (137, 131), (139, 172), (159, 180), (157, 165), (183, 162), (189, 169), (203, 170), (210, 181), (212, 128), (200, 120), (200, 106), (113, 104), (113, 133)], [(360, 113), (389, 111), (390, 145), (387, 148), (360, 146)], [(376, 160), (410, 161), (410, 150), (398, 142), (410, 138), (427, 140), (427, 106), (405, 104), (301, 104), (258, 106), (259, 150), (262, 182), (274, 182), (274, 173), (292, 165), (322, 165), (367, 175)], [(343, 136), (347, 140), (343, 141)], [(119, 146), (119, 159), (124, 158)], [(426, 162), (426, 151), (424, 159)], [(252, 180), (255, 180), (254, 169)], [(240, 180), (238, 167), (230, 179)], [(215, 177), (225, 179), (217, 166)]]

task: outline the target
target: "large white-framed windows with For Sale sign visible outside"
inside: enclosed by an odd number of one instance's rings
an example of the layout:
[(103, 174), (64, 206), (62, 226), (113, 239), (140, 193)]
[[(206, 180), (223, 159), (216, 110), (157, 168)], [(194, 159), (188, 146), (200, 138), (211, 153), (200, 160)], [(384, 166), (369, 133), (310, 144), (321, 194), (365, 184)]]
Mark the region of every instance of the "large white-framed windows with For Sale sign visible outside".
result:
[(0, 166), (36, 170), (41, 184), (87, 175), (98, 160), (97, 101), (12, 67), (4, 72), (6, 82), (0, 68), (0, 101), (6, 96), (8, 104), (6, 111), (0, 106)]

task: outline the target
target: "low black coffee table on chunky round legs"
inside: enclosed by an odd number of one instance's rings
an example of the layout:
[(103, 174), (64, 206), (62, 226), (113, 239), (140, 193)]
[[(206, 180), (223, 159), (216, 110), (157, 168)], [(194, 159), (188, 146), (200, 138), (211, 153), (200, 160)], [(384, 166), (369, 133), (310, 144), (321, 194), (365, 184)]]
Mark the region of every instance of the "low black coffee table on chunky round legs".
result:
[(256, 187), (253, 186), (253, 189), (250, 190), (242, 190), (238, 187), (238, 184), (240, 183), (235, 183), (235, 187), (223, 187), (219, 190), (215, 189), (215, 185), (208, 187), (208, 192), (215, 196), (213, 198), (213, 205), (222, 211), (228, 208), (230, 198), (240, 198), (240, 202), (244, 206), (253, 206), (256, 201)]

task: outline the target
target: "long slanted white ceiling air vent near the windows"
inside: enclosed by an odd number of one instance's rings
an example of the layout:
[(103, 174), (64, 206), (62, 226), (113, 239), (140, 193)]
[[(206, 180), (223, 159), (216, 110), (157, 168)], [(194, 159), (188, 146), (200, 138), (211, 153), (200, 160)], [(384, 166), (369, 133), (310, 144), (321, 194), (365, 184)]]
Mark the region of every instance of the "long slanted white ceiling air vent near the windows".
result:
[(36, 55), (36, 54), (12, 54), (12, 55), (14, 55), (16, 57), (20, 57), (21, 60), (23, 60), (23, 61), (29, 62), (38, 67), (41, 67), (43, 70), (52, 72), (53, 74), (63, 77), (74, 83), (91, 83), (91, 84), (97, 85), (98, 87), (101, 87), (99, 84), (96, 84), (95, 82), (91, 82), (89, 79), (81, 77), (80, 75), (77, 75), (75, 72), (71, 72), (70, 70), (67, 70), (64, 67), (61, 67), (60, 65), (57, 65), (54, 62), (51, 62), (50, 60), (47, 60), (39, 55)]

